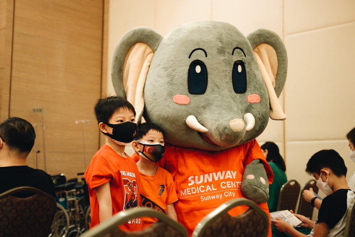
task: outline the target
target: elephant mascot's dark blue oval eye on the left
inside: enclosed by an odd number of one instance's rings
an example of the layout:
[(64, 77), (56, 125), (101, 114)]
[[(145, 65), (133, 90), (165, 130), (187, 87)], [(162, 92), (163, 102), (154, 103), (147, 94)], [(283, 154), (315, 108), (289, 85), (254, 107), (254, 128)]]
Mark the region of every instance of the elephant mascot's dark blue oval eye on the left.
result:
[(192, 61), (187, 77), (190, 94), (201, 95), (207, 89), (207, 68), (200, 60)]

